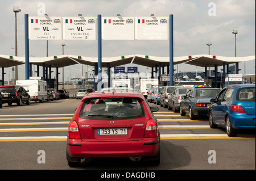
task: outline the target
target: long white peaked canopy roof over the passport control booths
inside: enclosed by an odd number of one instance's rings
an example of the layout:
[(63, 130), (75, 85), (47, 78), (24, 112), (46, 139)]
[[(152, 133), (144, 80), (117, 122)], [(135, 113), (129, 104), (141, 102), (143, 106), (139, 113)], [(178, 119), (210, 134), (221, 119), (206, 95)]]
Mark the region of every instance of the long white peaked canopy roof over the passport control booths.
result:
[[(102, 57), (102, 67), (107, 67), (108, 63), (111, 67), (114, 66), (120, 66), (125, 64), (138, 64), (148, 67), (153, 67), (155, 65), (158, 65), (159, 63), (161, 66), (167, 66), (170, 64), (170, 58), (169, 57), (156, 57), (156, 56), (147, 56), (142, 54), (131, 54), (124, 56), (118, 56), (118, 57)], [(213, 55), (207, 55), (207, 54), (197, 54), (192, 56), (181, 56), (181, 57), (174, 57), (174, 65), (176, 64), (190, 64), (195, 66), (222, 66), (223, 63), (226, 65), (228, 64), (234, 64), (236, 62), (245, 62), (255, 60), (254, 56), (246, 56), (246, 57), (224, 57), (224, 56), (213, 56)], [(69, 66), (69, 65), (75, 65), (75, 64), (85, 64), (94, 66), (94, 63), (98, 62), (97, 57), (85, 57), (81, 56), (81, 59), (79, 59), (79, 56), (75, 55), (59, 55), (55, 59), (54, 56), (49, 57), (30, 57), (30, 63), (33, 65), (40, 65), (43, 66), (45, 64), (46, 66), (51, 65), (53, 68), (58, 67), (61, 68), (63, 66)], [(13, 59), (10, 59), (10, 56), (7, 55), (0, 55), (0, 67), (8, 68), (15, 65), (22, 65), (25, 64), (25, 58), (24, 57), (15, 57), (13, 56)]]

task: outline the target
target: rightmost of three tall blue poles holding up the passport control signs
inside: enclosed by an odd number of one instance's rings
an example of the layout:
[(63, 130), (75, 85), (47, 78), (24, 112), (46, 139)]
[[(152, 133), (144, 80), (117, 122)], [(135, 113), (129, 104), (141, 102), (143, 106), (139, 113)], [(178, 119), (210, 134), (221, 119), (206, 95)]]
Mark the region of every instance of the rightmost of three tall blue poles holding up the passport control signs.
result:
[(169, 15), (170, 31), (170, 86), (174, 86), (174, 15)]

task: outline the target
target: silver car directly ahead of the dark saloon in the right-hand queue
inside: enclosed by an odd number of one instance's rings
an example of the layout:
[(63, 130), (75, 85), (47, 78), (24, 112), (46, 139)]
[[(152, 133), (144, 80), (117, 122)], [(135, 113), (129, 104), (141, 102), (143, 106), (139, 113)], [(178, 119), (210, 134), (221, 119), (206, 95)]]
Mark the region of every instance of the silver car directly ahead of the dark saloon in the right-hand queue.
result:
[(181, 96), (186, 95), (190, 87), (176, 87), (168, 98), (168, 110), (174, 110), (174, 112), (179, 112)]

